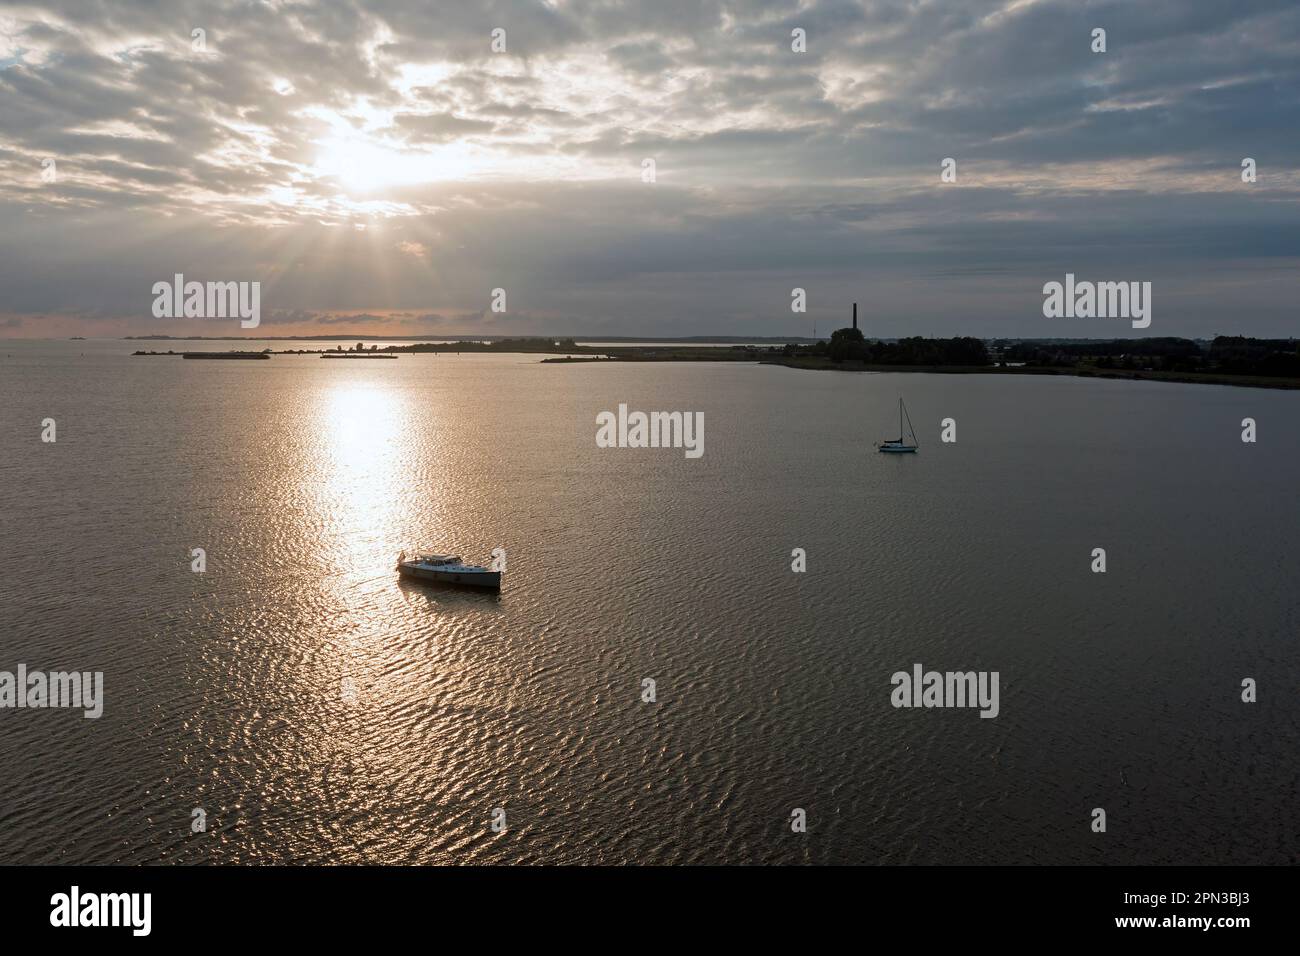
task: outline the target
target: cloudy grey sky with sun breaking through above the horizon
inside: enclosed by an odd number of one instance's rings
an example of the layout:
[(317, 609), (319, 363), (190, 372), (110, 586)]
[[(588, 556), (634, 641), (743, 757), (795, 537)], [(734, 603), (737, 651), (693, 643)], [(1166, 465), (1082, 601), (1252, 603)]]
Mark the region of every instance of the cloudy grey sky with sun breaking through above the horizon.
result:
[(1067, 272), (1294, 336), (1297, 78), (1295, 0), (0, 1), (0, 336), (239, 334), (174, 273), (247, 334), (1143, 334)]

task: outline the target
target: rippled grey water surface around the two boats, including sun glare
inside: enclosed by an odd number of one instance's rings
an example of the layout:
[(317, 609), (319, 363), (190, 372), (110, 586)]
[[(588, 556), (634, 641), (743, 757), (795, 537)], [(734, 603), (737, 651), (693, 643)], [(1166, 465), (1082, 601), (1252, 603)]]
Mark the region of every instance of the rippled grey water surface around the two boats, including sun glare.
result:
[(0, 670), (107, 696), (0, 710), (0, 862), (1296, 862), (1300, 394), (139, 345), (0, 349)]

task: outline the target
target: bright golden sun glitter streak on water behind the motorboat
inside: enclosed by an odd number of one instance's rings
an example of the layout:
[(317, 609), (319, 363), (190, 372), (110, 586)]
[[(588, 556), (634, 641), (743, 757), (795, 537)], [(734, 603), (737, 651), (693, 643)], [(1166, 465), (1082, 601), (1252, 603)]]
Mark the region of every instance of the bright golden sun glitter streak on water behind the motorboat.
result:
[[(303, 544), (302, 574), (280, 594), (292, 609), (282, 627), (254, 645), (283, 665), (282, 676), (265, 685), (259, 662), (246, 708), (274, 713), (291, 732), (272, 741), (265, 721), (244, 722), (265, 765), (299, 773), (266, 779), (252, 767), (250, 778), (260, 805), (312, 806), (285, 817), (281, 840), (334, 847), (330, 858), (341, 862), (411, 862), (429, 852), (450, 861), (471, 852), (481, 829), (446, 780), (468, 778), (508, 799), (499, 734), (528, 702), (517, 659), (502, 653), (499, 594), (396, 574), (403, 546), (468, 540), (486, 557), (490, 538), (477, 516), (482, 463), (465, 467), (463, 457), (465, 429), (476, 427), (471, 403), (384, 364), (330, 368), (332, 378), (300, 395), (299, 457), (281, 464), (303, 489), (282, 514)], [(446, 473), (469, 477), (448, 484)], [(455, 819), (434, 851), (406, 838), (429, 805)]]

